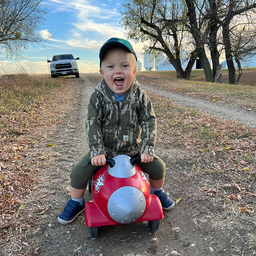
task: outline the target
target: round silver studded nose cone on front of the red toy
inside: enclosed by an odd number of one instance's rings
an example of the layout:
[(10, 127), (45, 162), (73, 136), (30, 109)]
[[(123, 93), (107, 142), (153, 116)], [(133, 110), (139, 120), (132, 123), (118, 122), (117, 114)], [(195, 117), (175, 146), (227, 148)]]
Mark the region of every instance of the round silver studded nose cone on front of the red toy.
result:
[(118, 188), (108, 199), (108, 213), (119, 223), (138, 220), (146, 209), (146, 199), (138, 188)]

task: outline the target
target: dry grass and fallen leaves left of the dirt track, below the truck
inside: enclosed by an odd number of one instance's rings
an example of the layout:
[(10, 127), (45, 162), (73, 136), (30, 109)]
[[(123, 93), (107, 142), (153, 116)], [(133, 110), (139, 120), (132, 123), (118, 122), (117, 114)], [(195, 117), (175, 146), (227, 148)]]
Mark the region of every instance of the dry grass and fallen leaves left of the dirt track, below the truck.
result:
[(44, 215), (35, 213), (47, 206), (38, 207), (33, 189), (53, 153), (37, 144), (62, 122), (60, 110), (73, 100), (71, 87), (65, 78), (24, 73), (0, 77), (1, 255), (22, 255), (40, 229)]

